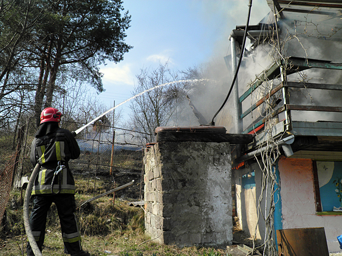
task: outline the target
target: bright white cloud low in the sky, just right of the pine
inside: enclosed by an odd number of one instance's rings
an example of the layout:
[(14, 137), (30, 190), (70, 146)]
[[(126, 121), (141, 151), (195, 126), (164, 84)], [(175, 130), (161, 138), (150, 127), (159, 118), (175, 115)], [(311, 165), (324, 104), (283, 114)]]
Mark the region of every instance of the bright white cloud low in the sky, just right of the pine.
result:
[(129, 85), (133, 85), (134, 83), (131, 64), (106, 66), (100, 72), (104, 74), (103, 81), (105, 83), (124, 83)]

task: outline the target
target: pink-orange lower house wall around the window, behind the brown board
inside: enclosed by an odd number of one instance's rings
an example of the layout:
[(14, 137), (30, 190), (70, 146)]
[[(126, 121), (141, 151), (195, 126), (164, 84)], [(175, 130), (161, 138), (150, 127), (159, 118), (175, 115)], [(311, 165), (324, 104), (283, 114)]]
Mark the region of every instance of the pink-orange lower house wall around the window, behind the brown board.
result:
[(324, 227), (329, 252), (341, 251), (337, 236), (342, 233), (340, 216), (316, 215), (311, 159), (281, 158), (283, 229)]

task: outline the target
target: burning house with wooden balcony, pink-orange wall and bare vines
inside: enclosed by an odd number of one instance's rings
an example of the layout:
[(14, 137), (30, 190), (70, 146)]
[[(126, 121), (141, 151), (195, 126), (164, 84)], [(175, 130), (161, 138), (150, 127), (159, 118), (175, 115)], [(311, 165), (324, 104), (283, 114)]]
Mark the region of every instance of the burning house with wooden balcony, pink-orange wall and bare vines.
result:
[[(283, 248), (277, 230), (322, 227), (328, 250), (337, 252), (342, 234), (342, 3), (267, 2), (270, 15), (248, 27), (253, 53), (244, 61), (253, 65), (256, 53), (266, 51), (268, 62), (247, 87), (245, 81), (235, 83), (235, 115), (225, 109), (218, 122), (254, 135), (252, 143), (236, 147), (233, 160), (236, 214), (243, 230), (278, 250)], [(237, 26), (230, 37), (233, 67), (242, 29)]]

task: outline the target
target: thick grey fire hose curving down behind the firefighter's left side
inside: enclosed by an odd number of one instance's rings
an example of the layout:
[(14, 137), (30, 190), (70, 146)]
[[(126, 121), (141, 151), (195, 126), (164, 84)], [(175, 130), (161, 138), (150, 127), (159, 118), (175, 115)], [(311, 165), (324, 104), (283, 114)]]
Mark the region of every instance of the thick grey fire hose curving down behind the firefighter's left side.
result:
[(27, 184), (26, 193), (25, 193), (25, 197), (24, 197), (24, 206), (23, 206), (23, 212), (24, 212), (23, 217), (24, 217), (25, 232), (27, 235), (27, 240), (30, 243), (32, 251), (33, 251), (35, 256), (43, 256), (43, 255), (41, 253), (41, 250), (39, 250), (37, 242), (36, 242), (36, 240), (32, 234), (32, 230), (31, 230), (30, 222), (29, 222), (28, 205), (30, 202), (33, 184), (34, 184), (34, 181), (35, 181), (37, 174), (39, 173), (40, 169), (41, 169), (41, 165), (39, 163), (37, 163), (35, 168), (33, 169), (30, 180), (28, 181), (28, 184)]

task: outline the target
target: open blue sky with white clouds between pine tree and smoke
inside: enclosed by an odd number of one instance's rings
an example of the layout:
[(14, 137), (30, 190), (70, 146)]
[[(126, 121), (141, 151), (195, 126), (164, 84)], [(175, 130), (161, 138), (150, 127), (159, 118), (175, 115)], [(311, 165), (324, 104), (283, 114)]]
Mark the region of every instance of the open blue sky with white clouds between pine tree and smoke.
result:
[[(108, 109), (114, 100), (117, 105), (132, 96), (143, 68), (168, 61), (171, 70), (181, 71), (214, 58), (224, 61), (231, 31), (246, 24), (248, 0), (124, 0), (123, 7), (131, 16), (125, 41), (133, 48), (122, 61), (100, 70), (106, 91), (97, 97)], [(250, 25), (269, 12), (266, 0), (254, 0)]]

